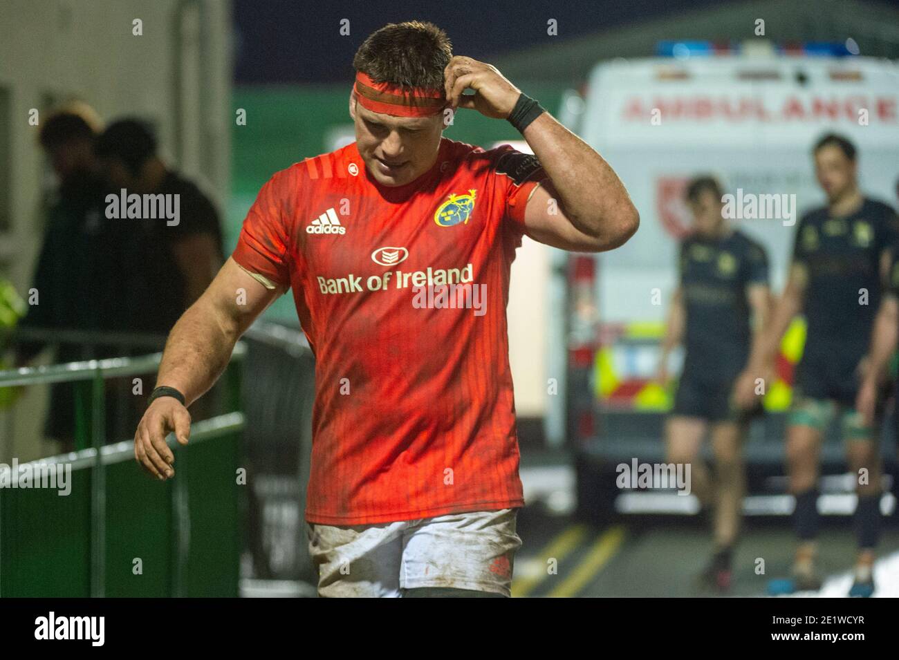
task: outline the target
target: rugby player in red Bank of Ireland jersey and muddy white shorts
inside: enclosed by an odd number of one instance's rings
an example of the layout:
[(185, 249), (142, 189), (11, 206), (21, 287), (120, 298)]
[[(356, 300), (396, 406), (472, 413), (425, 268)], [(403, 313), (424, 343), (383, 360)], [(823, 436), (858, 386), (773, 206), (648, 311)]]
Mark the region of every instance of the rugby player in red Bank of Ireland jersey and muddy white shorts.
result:
[[(319, 594), (508, 596), (524, 505), (505, 316), (515, 250), (524, 234), (610, 250), (639, 217), (599, 154), (493, 66), (453, 57), (436, 26), (389, 24), (353, 66), (356, 142), (260, 190), (169, 336), (135, 457), (174, 474), (165, 435), (187, 442), (185, 406), (292, 289), (316, 356)], [(508, 119), (535, 155), (443, 138), (459, 108)]]

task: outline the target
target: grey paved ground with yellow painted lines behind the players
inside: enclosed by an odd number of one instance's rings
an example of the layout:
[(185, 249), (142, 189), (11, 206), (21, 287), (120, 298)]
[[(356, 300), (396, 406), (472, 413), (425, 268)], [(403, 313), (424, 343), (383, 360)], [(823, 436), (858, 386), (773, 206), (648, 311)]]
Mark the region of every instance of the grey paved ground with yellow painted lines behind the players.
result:
[[(572, 517), (572, 478), (555, 470), (522, 470), (526, 499), (518, 533), (523, 546), (515, 560), (513, 595), (695, 596), (696, 576), (708, 560), (708, 532), (693, 516), (635, 517), (594, 527)], [(555, 484), (555, 488), (554, 488)], [(530, 491), (530, 492), (529, 492)], [(794, 549), (788, 517), (750, 518), (734, 557), (734, 596), (764, 596), (772, 577), (787, 576)], [(851, 519), (826, 519), (820, 543), (823, 574), (819, 594), (842, 596), (850, 587), (855, 538)], [(899, 524), (885, 524), (876, 596), (899, 596)], [(763, 574), (756, 573), (756, 567)]]

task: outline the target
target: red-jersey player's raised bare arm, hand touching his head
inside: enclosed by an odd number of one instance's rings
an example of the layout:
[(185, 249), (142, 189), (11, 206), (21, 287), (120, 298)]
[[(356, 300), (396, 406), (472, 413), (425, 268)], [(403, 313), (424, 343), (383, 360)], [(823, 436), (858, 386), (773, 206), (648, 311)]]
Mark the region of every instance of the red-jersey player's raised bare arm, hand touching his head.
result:
[[(563, 250), (603, 251), (636, 232), (640, 216), (609, 163), (494, 66), (453, 57), (444, 78), (454, 109), (509, 119), (547, 172), (549, 181), (534, 191), (525, 213), (531, 238)], [(475, 93), (464, 95), (466, 89)]]

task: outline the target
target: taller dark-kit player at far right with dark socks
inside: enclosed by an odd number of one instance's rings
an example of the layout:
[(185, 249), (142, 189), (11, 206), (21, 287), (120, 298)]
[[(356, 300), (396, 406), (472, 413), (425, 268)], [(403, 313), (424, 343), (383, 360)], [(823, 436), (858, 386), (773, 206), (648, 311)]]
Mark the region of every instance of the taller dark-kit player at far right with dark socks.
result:
[[(897, 225), (892, 208), (865, 198), (856, 180), (855, 146), (824, 136), (814, 145), (818, 182), (827, 207), (797, 226), (793, 263), (765, 336), (756, 374), (770, 374), (790, 321), (806, 316), (806, 347), (797, 367), (787, 429), (789, 489), (796, 497), (793, 523), (799, 539), (793, 576), (774, 580), (772, 594), (817, 590), (815, 540), (819, 527), (817, 482), (823, 434), (841, 422), (850, 471), (858, 476), (855, 528), (859, 554), (852, 596), (874, 592), (873, 565), (880, 531), (880, 464), (876, 420), (855, 409), (865, 377), (868, 340), (880, 303)], [(873, 417), (873, 416), (872, 416)]]

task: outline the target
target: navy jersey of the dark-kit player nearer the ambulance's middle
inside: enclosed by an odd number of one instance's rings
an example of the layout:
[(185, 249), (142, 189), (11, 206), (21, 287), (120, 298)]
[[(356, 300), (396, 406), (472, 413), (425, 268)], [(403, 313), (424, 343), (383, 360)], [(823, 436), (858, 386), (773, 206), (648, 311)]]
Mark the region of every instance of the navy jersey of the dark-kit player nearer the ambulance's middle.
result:
[(768, 255), (746, 234), (688, 236), (681, 243), (681, 292), (686, 311), (684, 374), (706, 381), (734, 378), (752, 339), (747, 287), (768, 286)]

